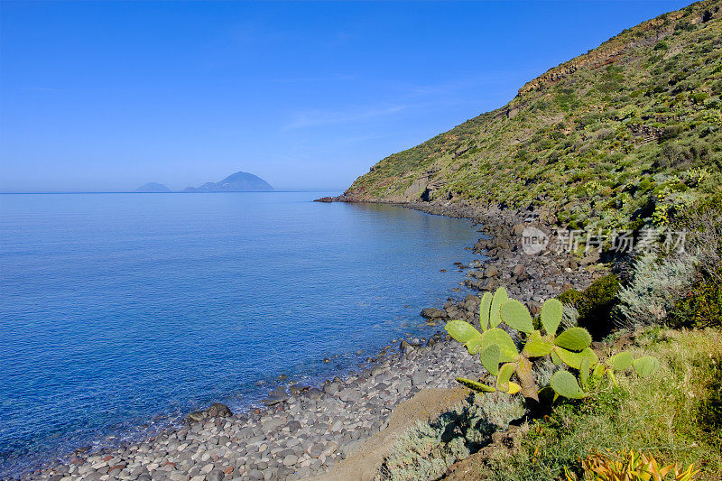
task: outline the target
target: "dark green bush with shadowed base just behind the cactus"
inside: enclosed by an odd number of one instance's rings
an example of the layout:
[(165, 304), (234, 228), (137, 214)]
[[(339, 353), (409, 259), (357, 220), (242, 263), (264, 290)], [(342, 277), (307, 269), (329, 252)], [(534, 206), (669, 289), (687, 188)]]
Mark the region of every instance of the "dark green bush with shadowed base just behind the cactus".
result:
[(595, 339), (604, 338), (614, 328), (610, 314), (618, 303), (619, 280), (614, 274), (600, 277), (584, 291), (569, 289), (557, 299), (579, 310), (579, 326)]

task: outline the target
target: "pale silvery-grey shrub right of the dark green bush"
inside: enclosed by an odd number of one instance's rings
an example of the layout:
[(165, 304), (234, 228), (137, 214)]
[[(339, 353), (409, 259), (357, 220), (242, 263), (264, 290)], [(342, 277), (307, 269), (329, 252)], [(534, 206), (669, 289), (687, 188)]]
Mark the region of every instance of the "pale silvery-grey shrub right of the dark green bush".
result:
[(634, 263), (634, 280), (619, 291), (619, 312), (615, 319), (625, 328), (662, 325), (677, 301), (690, 289), (697, 259), (690, 254), (657, 262), (655, 254), (643, 254)]

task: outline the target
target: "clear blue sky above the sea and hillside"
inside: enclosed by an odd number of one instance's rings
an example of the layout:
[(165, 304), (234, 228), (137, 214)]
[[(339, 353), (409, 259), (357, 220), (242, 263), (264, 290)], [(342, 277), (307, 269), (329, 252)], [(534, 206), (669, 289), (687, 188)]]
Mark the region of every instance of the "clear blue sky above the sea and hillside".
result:
[(0, 190), (341, 190), (688, 4), (0, 0)]

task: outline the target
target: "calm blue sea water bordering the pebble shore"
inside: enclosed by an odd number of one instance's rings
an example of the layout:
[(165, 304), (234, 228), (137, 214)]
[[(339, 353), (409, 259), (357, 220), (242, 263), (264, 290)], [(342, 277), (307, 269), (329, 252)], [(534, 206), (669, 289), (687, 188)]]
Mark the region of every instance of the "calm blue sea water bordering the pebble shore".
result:
[(428, 334), (474, 229), (328, 194), (0, 195), (0, 474)]

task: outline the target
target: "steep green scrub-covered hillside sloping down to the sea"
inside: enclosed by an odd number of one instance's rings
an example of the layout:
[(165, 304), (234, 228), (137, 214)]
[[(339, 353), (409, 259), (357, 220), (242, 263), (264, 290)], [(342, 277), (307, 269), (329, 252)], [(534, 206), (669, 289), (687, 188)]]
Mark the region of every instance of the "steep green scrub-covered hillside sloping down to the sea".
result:
[(719, 188), (720, 94), (722, 0), (706, 0), (625, 30), (527, 82), (506, 106), (386, 157), (341, 199), (543, 203), (560, 223), (621, 226), (649, 215), (650, 202), (675, 208)]

